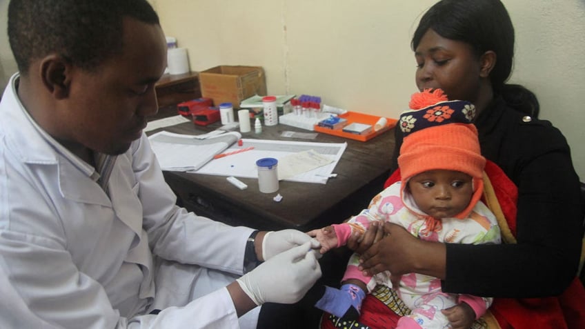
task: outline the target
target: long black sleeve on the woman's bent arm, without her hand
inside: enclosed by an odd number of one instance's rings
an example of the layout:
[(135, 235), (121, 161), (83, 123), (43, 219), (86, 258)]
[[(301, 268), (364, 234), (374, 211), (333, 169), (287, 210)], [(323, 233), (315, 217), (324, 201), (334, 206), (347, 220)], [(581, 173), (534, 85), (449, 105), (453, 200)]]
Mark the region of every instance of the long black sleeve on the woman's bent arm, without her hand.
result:
[(447, 245), (445, 291), (490, 292), (496, 297), (555, 296), (575, 278), (583, 214), (579, 181), (568, 150), (532, 159), (513, 179), (519, 186), (517, 243)]

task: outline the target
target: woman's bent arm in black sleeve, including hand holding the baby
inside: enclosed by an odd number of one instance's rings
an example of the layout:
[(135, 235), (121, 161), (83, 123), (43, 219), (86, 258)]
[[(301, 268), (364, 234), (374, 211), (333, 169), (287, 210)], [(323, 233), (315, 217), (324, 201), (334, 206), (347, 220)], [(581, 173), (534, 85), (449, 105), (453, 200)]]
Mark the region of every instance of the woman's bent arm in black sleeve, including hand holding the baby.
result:
[[(433, 275), (443, 280), (445, 292), (559, 295), (575, 277), (583, 234), (579, 183), (571, 159), (563, 152), (543, 155), (524, 167), (519, 181), (517, 244), (419, 241), (406, 230), (386, 224), (388, 236), (362, 254), (362, 267), (370, 275), (382, 270), (394, 276)], [(366, 231), (364, 241), (374, 234)]]

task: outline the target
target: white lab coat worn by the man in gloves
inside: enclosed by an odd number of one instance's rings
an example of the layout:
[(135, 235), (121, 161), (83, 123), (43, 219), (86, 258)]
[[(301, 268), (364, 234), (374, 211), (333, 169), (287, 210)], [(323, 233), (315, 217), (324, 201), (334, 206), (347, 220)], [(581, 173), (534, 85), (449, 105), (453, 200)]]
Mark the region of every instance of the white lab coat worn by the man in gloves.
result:
[(224, 286), (251, 229), (175, 206), (145, 135), (108, 198), (28, 116), (17, 77), (0, 102), (0, 328), (239, 328)]

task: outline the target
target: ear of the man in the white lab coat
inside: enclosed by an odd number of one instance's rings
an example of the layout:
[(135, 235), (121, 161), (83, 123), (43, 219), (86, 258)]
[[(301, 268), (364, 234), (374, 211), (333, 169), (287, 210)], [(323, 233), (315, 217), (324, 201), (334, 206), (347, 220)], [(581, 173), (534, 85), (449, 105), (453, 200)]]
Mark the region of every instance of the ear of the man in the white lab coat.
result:
[(50, 54), (41, 61), (41, 80), (46, 90), (55, 99), (64, 99), (69, 95), (71, 86), (71, 64), (62, 56)]

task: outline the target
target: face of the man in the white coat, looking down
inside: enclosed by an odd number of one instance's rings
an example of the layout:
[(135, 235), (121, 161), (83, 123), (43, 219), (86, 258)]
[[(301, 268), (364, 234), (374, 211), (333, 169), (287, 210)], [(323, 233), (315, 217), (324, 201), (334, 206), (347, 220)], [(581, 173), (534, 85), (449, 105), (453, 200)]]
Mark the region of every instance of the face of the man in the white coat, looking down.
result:
[[(106, 154), (126, 152), (158, 110), (155, 82), (166, 67), (158, 25), (126, 18), (123, 50), (94, 72), (74, 68), (63, 120), (68, 142)], [(63, 113), (63, 112), (60, 112)]]

